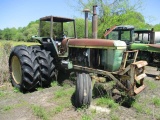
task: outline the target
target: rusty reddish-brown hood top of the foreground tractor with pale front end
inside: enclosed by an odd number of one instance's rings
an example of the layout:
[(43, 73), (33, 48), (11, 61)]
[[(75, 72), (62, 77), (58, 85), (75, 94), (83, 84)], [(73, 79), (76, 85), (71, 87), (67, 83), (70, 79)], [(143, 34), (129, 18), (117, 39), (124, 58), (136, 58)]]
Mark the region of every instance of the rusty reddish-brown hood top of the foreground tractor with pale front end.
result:
[(120, 40), (109, 39), (64, 39), (62, 47), (126, 49), (126, 43)]

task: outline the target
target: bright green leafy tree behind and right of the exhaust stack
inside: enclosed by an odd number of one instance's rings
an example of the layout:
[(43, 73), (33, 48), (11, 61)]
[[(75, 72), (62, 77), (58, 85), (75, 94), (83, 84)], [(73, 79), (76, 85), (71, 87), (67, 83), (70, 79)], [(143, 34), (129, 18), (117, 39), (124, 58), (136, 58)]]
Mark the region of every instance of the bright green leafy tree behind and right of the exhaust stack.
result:
[(142, 0), (78, 0), (78, 8), (92, 10), (93, 5), (98, 5), (98, 37), (102, 37), (104, 31), (113, 25), (130, 24), (135, 27), (144, 27), (145, 20), (136, 10), (141, 8)]

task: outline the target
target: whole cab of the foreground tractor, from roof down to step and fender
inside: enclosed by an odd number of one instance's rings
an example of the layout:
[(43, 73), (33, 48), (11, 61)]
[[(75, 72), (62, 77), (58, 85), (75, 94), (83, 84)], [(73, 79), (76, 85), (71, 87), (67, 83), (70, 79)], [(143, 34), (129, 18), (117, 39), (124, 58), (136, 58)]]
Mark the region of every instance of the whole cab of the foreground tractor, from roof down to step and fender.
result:
[(62, 41), (77, 38), (75, 20), (71, 18), (46, 16), (40, 18), (38, 36), (32, 36), (53, 55), (63, 55)]

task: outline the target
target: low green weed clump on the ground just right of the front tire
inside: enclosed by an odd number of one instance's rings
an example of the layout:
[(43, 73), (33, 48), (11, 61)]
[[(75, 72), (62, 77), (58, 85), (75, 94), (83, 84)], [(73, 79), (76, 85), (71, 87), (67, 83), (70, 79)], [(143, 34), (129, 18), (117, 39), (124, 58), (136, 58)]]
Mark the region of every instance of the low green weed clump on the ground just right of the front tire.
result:
[(118, 107), (118, 104), (114, 102), (111, 98), (98, 98), (96, 101), (97, 105), (104, 106), (107, 105), (109, 108), (116, 109)]

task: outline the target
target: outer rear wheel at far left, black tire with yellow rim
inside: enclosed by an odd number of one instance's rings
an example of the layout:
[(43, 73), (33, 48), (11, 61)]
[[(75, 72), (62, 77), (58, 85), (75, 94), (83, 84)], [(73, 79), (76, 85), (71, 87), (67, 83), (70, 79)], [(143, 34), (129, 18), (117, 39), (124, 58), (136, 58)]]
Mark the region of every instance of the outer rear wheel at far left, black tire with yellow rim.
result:
[(21, 91), (31, 90), (38, 84), (39, 65), (31, 47), (16, 46), (9, 57), (11, 83)]

